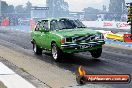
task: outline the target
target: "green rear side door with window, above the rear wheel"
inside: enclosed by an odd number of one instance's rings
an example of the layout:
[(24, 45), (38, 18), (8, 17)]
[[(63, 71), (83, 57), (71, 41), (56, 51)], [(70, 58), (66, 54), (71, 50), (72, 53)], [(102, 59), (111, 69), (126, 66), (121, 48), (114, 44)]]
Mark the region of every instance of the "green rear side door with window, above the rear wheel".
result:
[(41, 47), (41, 41), (40, 41), (40, 38), (41, 38), (41, 32), (40, 32), (41, 28), (40, 28), (40, 23), (38, 23), (35, 27), (35, 32), (34, 32), (34, 40), (35, 40), (35, 43)]

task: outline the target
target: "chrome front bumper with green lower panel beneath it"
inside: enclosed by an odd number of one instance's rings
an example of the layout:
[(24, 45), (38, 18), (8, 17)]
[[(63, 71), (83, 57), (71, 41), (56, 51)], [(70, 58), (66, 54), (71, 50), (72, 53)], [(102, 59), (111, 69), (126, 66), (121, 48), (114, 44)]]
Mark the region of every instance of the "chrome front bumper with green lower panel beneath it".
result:
[(88, 43), (79, 43), (79, 44), (64, 44), (61, 45), (61, 49), (66, 53), (76, 53), (76, 52), (85, 52), (96, 50), (102, 48), (102, 45), (105, 44), (105, 41), (98, 42), (88, 42)]

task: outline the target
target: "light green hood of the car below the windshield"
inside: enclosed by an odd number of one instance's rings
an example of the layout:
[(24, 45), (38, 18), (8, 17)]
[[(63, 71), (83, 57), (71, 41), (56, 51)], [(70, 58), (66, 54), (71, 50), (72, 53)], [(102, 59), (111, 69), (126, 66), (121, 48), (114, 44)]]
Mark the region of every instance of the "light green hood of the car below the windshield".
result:
[(88, 28), (77, 28), (77, 29), (63, 29), (63, 30), (56, 30), (52, 31), (56, 35), (61, 37), (72, 37), (72, 36), (84, 36), (84, 35), (94, 35), (100, 34), (97, 31)]

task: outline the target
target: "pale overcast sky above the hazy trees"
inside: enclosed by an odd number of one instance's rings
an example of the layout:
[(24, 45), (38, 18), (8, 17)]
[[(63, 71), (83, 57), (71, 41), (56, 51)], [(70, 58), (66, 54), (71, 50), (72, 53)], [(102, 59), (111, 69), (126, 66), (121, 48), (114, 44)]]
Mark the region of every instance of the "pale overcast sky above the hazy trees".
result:
[[(27, 1), (30, 1), (35, 6), (45, 6), (46, 0), (2, 0), (6, 1), (11, 5), (24, 5)], [(56, 1), (56, 0), (55, 0)], [(98, 9), (102, 9), (102, 5), (109, 4), (109, 0), (65, 0), (69, 4), (70, 11), (81, 11), (87, 7), (94, 7)], [(126, 0), (126, 2), (130, 2), (132, 0)]]

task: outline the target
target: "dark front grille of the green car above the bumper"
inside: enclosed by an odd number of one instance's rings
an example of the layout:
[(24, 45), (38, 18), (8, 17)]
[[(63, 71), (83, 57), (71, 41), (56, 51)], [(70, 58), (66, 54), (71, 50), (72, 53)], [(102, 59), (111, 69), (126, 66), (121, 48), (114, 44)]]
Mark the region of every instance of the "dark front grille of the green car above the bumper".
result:
[(74, 37), (73, 40), (75, 42), (87, 42), (87, 41), (95, 40), (95, 37), (96, 35), (79, 36), (79, 37)]

